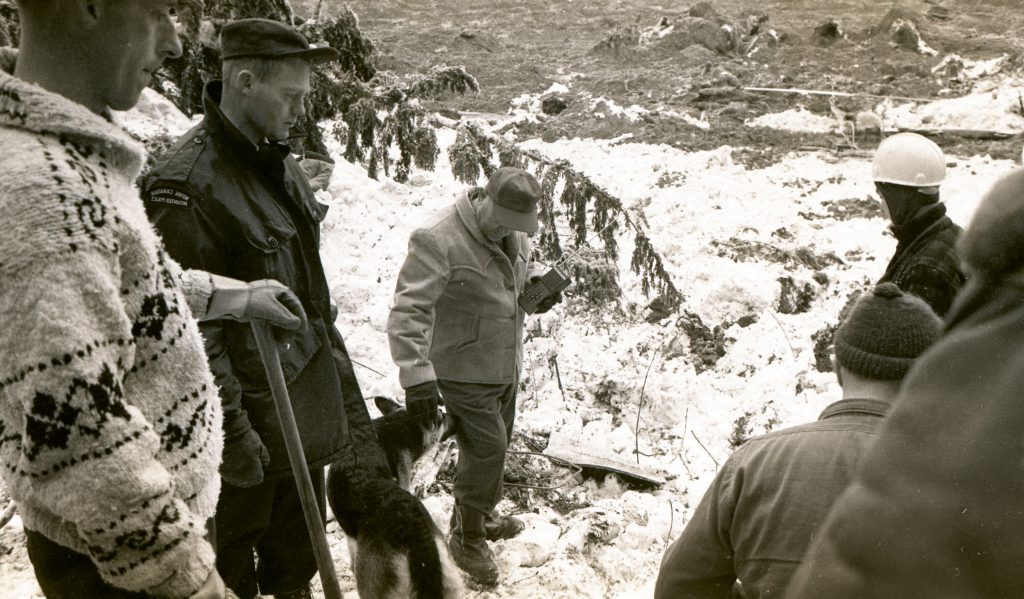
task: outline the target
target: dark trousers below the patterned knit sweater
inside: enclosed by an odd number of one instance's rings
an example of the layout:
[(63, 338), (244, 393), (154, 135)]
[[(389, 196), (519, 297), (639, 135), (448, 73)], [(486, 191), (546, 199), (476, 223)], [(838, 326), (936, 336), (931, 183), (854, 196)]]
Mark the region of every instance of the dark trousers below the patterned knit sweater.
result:
[(89, 556), (72, 551), (35, 530), (25, 529), (29, 560), (36, 570), (36, 581), (47, 599), (145, 599), (145, 593), (133, 593), (111, 586), (99, 576)]

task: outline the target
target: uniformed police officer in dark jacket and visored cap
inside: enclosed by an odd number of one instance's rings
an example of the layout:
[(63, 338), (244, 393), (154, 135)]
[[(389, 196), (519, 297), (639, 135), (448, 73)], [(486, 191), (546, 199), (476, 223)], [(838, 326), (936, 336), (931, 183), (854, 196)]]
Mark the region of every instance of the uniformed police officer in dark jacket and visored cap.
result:
[[(265, 19), (229, 23), (220, 39), (222, 81), (207, 83), (203, 121), (146, 175), (143, 199), (182, 265), (276, 279), (301, 300), (308, 326), (278, 349), (323, 509), (323, 467), (349, 440), (377, 446), (317, 251), (326, 207), (286, 143), (305, 115), (310, 70), (338, 53)], [(243, 599), (310, 597), (316, 562), (252, 331), (218, 320), (203, 336), (224, 409), (217, 568)]]

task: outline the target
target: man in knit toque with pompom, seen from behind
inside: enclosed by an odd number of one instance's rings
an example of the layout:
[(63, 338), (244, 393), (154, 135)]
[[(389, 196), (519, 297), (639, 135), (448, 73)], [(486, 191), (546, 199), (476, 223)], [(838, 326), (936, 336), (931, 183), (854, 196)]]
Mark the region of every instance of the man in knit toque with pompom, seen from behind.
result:
[(835, 338), (843, 399), (816, 422), (754, 437), (729, 458), (666, 552), (655, 599), (781, 596), (900, 381), (941, 329), (923, 300), (892, 283), (862, 295)]

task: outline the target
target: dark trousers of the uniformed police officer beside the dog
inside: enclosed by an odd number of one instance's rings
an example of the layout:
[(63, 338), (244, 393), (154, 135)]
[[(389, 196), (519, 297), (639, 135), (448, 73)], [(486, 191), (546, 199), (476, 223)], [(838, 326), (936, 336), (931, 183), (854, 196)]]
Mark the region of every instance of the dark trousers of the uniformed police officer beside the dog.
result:
[[(312, 468), (309, 475), (325, 520), (324, 469)], [(274, 595), (300, 589), (316, 573), (316, 557), (292, 477), (264, 480), (249, 488), (221, 481), (213, 520), (217, 571), (241, 599), (252, 599), (257, 591)]]

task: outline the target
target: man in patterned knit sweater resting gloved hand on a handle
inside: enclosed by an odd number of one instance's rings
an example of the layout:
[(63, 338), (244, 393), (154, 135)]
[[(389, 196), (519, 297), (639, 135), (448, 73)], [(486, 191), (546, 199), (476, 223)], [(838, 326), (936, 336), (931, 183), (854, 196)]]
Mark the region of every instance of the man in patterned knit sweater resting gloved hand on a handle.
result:
[[(0, 473), (47, 597), (223, 597), (206, 541), (221, 408), (196, 317), (304, 314), (182, 271), (110, 122), (181, 47), (171, 0), (19, 0), (0, 73)], [(301, 317), (300, 317), (301, 316)]]

